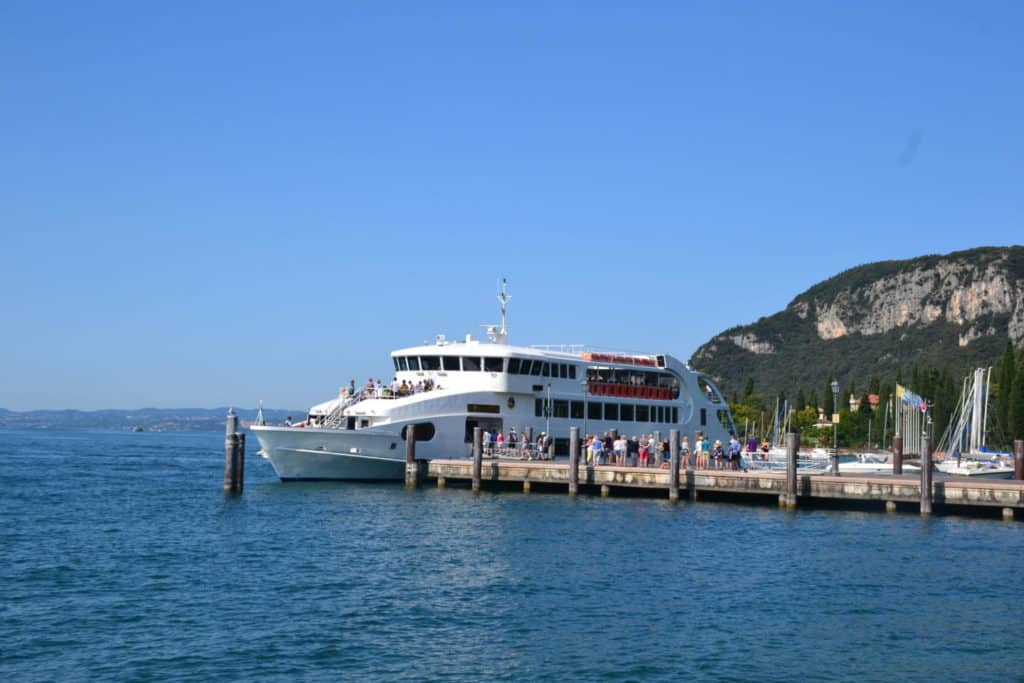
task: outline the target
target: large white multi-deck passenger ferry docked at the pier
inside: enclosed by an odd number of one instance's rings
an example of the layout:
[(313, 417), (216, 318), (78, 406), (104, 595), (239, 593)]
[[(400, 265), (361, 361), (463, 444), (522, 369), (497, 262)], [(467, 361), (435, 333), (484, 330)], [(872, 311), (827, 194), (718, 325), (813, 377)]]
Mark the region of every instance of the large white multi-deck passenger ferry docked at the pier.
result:
[[(579, 346), (509, 344), (510, 297), (503, 291), (501, 326), (488, 340), (449, 341), (391, 352), (394, 382), (343, 390), (292, 426), (251, 427), (260, 453), (283, 481), (402, 479), (406, 428), (416, 425), (418, 458), (471, 455), (473, 428), (520, 434), (526, 428), (568, 453), (569, 427), (581, 435), (612, 429), (628, 436), (696, 432), (714, 441), (735, 431), (715, 385), (669, 354), (632, 354)], [(400, 387), (432, 385), (404, 393)]]

